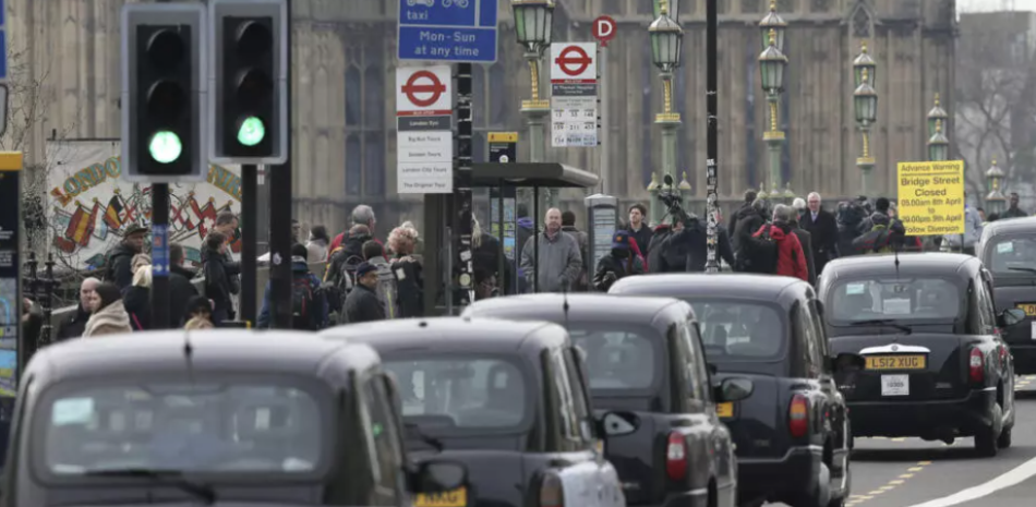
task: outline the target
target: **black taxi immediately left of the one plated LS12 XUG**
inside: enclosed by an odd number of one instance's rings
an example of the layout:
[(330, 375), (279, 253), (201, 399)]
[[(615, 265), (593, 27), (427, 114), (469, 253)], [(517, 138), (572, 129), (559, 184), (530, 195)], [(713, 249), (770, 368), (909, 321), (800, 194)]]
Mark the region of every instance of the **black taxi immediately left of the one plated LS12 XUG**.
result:
[(716, 377), (751, 379), (748, 399), (720, 410), (737, 445), (743, 503), (845, 503), (852, 428), (828, 359), (823, 305), (809, 283), (762, 275), (649, 275), (623, 278), (609, 293), (686, 301)]

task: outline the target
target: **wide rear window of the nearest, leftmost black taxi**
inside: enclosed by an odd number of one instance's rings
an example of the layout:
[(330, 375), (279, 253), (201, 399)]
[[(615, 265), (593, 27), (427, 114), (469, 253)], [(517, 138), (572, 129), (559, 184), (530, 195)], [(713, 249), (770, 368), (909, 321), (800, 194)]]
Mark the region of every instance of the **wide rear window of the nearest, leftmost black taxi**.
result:
[(313, 474), (327, 403), (278, 381), (59, 386), (32, 425), (34, 461), (57, 478), (124, 470)]

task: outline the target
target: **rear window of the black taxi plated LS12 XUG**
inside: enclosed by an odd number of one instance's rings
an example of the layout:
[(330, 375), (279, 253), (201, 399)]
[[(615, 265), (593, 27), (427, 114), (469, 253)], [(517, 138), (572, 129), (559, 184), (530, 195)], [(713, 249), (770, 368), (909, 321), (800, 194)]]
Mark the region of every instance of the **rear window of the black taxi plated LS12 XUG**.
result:
[(961, 290), (936, 277), (844, 280), (827, 293), (828, 319), (834, 325), (870, 321), (953, 322), (961, 313)]

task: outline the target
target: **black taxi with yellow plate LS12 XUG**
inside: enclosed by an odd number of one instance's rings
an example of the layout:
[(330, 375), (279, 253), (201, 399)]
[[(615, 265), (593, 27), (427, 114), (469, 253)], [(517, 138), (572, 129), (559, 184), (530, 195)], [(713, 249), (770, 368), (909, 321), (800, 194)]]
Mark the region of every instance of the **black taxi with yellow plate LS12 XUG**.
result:
[(834, 352), (864, 357), (839, 372), (857, 436), (975, 437), (983, 456), (1011, 445), (1014, 364), (978, 257), (867, 255), (823, 268), (820, 297)]

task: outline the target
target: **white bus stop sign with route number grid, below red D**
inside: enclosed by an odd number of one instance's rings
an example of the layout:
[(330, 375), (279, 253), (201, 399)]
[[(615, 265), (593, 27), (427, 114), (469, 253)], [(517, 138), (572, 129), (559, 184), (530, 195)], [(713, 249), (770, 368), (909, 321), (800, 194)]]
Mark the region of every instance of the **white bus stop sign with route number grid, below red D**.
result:
[(551, 45), (551, 143), (598, 145), (598, 45)]

